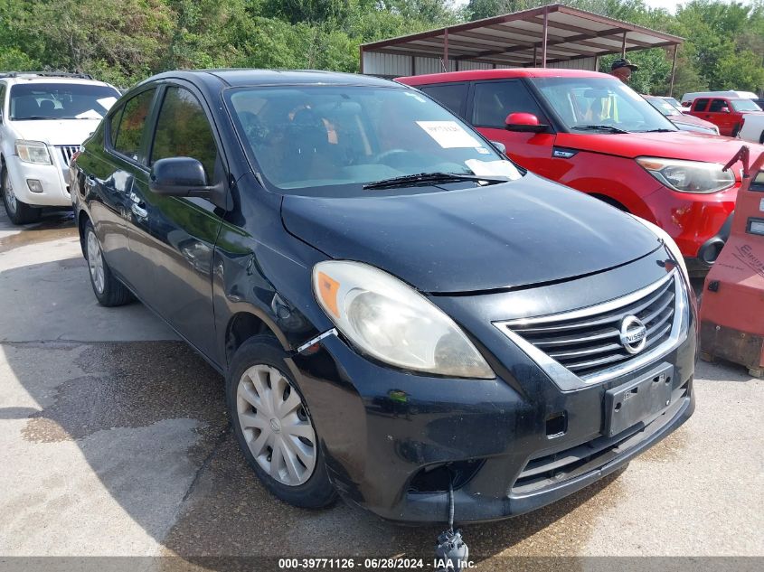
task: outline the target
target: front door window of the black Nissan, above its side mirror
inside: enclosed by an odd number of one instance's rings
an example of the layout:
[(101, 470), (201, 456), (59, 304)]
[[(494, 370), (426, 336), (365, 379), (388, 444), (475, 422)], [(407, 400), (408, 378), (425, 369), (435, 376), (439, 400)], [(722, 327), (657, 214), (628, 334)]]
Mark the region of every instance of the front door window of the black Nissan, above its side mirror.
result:
[(156, 122), (151, 163), (167, 157), (193, 157), (211, 181), (217, 160), (212, 128), (199, 101), (188, 89), (167, 88)]

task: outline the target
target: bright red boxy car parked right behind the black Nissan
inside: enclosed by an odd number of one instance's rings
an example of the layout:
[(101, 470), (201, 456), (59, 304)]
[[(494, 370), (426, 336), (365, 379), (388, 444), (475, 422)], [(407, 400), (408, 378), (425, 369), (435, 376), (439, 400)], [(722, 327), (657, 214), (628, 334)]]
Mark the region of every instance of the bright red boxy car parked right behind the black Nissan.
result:
[(398, 81), (467, 119), (533, 173), (657, 224), (691, 267), (707, 269), (729, 235), (740, 165), (722, 165), (740, 142), (679, 131), (612, 76), (524, 68)]

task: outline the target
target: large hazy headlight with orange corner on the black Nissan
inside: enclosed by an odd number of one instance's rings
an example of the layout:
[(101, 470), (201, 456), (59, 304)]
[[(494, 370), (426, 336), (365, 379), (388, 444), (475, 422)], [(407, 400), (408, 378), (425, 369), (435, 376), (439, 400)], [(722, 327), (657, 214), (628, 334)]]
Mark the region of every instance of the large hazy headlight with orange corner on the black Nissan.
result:
[(448, 315), (379, 268), (319, 262), (313, 268), (313, 290), (337, 329), (379, 361), (444, 376), (495, 378)]

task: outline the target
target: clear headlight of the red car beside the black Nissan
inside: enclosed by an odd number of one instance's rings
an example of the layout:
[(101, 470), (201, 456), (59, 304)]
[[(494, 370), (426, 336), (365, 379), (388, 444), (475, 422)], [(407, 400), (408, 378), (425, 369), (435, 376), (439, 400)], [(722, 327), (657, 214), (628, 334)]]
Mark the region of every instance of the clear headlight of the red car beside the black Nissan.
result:
[(735, 183), (735, 175), (731, 171), (722, 171), (723, 165), (717, 163), (658, 157), (637, 157), (637, 163), (674, 191), (718, 192)]

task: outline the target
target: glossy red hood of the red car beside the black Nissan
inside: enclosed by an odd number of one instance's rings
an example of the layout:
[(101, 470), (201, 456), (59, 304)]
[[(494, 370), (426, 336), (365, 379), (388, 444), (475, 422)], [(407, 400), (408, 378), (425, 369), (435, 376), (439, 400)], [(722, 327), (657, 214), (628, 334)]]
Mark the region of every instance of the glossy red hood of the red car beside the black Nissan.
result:
[[(555, 137), (554, 145), (630, 159), (651, 156), (726, 164), (740, 150), (743, 143), (730, 137), (675, 131), (624, 134), (559, 133)], [(764, 152), (764, 145), (745, 145), (750, 147), (751, 156), (759, 156), (759, 153)]]

